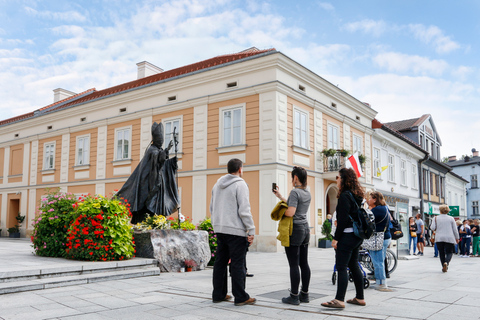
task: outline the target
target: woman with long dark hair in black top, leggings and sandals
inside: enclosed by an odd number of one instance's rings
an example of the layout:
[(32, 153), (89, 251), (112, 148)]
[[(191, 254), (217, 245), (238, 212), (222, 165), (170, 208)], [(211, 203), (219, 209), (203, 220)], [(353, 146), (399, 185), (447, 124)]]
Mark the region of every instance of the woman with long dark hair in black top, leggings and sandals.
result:
[[(348, 286), (348, 272), (350, 269), (355, 284), (355, 298), (347, 303), (364, 306), (363, 273), (358, 265), (358, 251), (362, 239), (353, 233), (353, 223), (350, 217), (357, 219), (354, 212), (357, 205), (363, 202), (364, 192), (357, 179), (357, 174), (352, 169), (343, 168), (337, 176), (338, 204), (337, 204), (337, 229), (332, 241), (335, 251), (335, 264), (338, 273), (337, 294), (332, 301), (322, 303), (328, 308), (345, 308), (345, 293)], [(356, 204), (355, 204), (355, 202)]]

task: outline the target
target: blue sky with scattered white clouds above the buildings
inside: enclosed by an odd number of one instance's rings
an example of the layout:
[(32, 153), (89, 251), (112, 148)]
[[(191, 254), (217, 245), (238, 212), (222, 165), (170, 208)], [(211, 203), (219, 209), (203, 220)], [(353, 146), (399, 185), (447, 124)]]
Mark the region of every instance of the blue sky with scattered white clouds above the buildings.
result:
[(480, 1), (0, 0), (0, 119), (137, 76), (275, 48), (382, 122), (431, 114), (442, 157), (480, 149)]

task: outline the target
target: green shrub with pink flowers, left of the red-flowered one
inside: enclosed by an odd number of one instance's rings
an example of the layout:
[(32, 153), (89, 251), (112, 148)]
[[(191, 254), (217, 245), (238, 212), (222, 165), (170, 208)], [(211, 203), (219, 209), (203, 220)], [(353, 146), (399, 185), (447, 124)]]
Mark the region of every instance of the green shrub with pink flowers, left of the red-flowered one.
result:
[(32, 246), (35, 254), (44, 257), (63, 257), (67, 230), (75, 218), (71, 193), (49, 192), (42, 200), (38, 216), (33, 219)]

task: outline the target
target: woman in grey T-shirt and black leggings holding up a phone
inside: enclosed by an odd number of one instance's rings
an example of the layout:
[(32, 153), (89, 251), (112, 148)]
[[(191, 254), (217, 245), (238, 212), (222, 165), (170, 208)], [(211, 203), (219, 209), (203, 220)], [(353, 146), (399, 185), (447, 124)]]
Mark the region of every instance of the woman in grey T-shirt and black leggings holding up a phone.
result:
[[(308, 207), (311, 195), (307, 188), (307, 171), (301, 167), (293, 167), (293, 189), (286, 200), (276, 189), (272, 190), (280, 200), (286, 201), (286, 217), (293, 217), (293, 228), (289, 246), (285, 247), (288, 265), (290, 266), (290, 296), (282, 298), (283, 303), (299, 305), (300, 302), (310, 302), (308, 287), (310, 285), (310, 266), (308, 265), (308, 244), (310, 242), (310, 228), (308, 226)], [(298, 291), (302, 282), (302, 289)]]

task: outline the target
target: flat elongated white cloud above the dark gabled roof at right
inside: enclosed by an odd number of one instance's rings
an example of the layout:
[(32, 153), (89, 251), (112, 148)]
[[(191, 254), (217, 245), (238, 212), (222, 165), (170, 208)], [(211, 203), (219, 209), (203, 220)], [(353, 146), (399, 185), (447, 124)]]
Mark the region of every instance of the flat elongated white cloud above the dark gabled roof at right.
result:
[(448, 69), (448, 63), (444, 60), (431, 60), (398, 52), (380, 53), (373, 57), (373, 61), (389, 72), (404, 74), (441, 76)]

